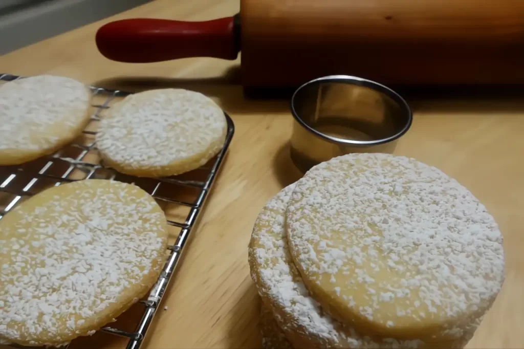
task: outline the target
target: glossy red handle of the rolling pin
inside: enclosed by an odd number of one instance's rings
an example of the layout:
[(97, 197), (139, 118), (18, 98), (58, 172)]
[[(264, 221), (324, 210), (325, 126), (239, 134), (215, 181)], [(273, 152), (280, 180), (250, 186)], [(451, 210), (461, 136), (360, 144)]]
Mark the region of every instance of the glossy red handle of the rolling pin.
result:
[(237, 16), (201, 22), (134, 18), (117, 20), (96, 33), (108, 59), (146, 63), (186, 57), (235, 59), (240, 50)]

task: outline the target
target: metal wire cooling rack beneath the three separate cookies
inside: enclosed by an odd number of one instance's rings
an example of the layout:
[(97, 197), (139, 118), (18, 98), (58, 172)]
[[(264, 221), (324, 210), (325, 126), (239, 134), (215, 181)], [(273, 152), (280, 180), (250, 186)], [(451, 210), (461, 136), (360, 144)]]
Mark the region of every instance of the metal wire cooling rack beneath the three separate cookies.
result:
[[(0, 73), (0, 84), (16, 79), (23, 78)], [(103, 117), (104, 111), (110, 108), (112, 103), (130, 93), (96, 87), (92, 87), (91, 90), (93, 92), (91, 122), (77, 141), (51, 156), (20, 166), (0, 167), (0, 219), (31, 195), (51, 186), (59, 186), (61, 183), (75, 180), (114, 179), (135, 183), (151, 194), (165, 209), (168, 224), (174, 231), (178, 231), (178, 234), (174, 242), (168, 246), (169, 257), (155, 286), (148, 296), (139, 302), (144, 309), (135, 330), (124, 331), (113, 327), (101, 329), (106, 333), (127, 337), (126, 349), (138, 349), (177, 268), (184, 245), (203, 209), (216, 174), (220, 171), (234, 134), (234, 125), (231, 118), (224, 113), (227, 119), (224, 147), (213, 160), (198, 170), (176, 177), (158, 179), (125, 176), (103, 165), (97, 156), (94, 136), (96, 125)]]

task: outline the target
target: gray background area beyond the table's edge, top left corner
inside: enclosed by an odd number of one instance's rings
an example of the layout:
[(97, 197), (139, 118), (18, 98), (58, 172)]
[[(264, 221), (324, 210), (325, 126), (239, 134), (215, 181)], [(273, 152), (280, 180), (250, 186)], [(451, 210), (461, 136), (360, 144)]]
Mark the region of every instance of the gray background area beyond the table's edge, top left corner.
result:
[(0, 0), (0, 54), (146, 2), (147, 0)]

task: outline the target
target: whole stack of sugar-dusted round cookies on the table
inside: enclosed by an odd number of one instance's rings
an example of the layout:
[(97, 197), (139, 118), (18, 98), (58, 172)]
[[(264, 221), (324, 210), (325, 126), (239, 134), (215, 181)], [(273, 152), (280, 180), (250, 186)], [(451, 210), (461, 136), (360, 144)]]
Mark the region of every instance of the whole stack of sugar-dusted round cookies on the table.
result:
[(505, 270), (498, 225), (470, 191), (386, 154), (334, 158), (278, 193), (249, 265), (266, 348), (463, 347)]

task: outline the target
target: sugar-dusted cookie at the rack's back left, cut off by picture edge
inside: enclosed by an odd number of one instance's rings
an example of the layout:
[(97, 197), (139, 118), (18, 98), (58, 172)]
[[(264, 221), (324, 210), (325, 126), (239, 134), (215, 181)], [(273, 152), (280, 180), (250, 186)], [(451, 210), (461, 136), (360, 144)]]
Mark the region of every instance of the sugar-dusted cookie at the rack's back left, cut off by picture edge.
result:
[(89, 123), (91, 91), (52, 75), (0, 85), (0, 165), (19, 165), (52, 154)]

